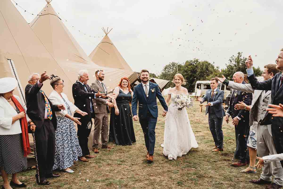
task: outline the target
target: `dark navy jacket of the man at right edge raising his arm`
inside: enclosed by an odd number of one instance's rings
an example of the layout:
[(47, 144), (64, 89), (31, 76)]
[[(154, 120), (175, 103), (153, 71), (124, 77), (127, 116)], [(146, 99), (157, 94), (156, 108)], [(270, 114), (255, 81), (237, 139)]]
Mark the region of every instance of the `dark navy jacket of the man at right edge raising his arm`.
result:
[[(283, 104), (283, 87), (280, 87), (281, 73), (277, 73), (269, 80), (258, 82), (256, 76), (253, 74), (248, 77), (250, 84), (254, 90), (271, 90), (271, 104), (279, 105)], [(272, 114), (266, 112), (263, 120), (260, 121), (260, 125), (277, 125), (282, 126), (283, 118), (273, 117)], [(282, 129), (279, 129), (280, 131)]]

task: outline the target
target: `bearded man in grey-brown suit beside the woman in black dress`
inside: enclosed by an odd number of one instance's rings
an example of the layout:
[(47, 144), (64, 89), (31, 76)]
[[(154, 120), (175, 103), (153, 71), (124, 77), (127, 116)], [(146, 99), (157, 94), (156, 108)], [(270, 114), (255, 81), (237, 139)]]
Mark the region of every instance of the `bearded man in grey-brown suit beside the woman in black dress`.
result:
[[(91, 89), (94, 91), (102, 91), (106, 95), (108, 94), (107, 87), (102, 82), (104, 80), (103, 70), (97, 70), (95, 72), (96, 80), (91, 84)], [(94, 132), (93, 132), (93, 152), (99, 153), (98, 151), (98, 141), (101, 132), (101, 144), (102, 148), (111, 149), (113, 147), (109, 146), (108, 143), (108, 113), (109, 107), (113, 107), (111, 103), (111, 98), (95, 98), (93, 99), (93, 107), (95, 110), (94, 118)]]

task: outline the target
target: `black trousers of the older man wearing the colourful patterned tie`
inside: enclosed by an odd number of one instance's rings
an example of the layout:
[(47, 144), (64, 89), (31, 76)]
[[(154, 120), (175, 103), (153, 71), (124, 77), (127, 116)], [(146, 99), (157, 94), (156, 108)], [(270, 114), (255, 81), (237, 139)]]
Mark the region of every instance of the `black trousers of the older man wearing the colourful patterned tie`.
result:
[(49, 119), (44, 120), (41, 129), (35, 129), (35, 145), (40, 180), (52, 174), (55, 158), (55, 129)]

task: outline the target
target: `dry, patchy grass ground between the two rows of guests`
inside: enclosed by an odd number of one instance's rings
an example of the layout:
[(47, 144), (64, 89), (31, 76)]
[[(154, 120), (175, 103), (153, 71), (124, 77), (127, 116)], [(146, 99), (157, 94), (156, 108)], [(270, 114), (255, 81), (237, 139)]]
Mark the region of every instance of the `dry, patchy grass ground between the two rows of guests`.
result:
[[(192, 129), (199, 147), (187, 155), (169, 161), (162, 154), (164, 118), (158, 102), (159, 117), (156, 125), (154, 163), (145, 161), (147, 150), (139, 122), (134, 122), (136, 144), (115, 146), (112, 150), (100, 150), (97, 158), (87, 163), (77, 162), (71, 169), (75, 172), (59, 173), (61, 177), (49, 179), (51, 185), (38, 186), (35, 183), (35, 170), (19, 174), (19, 180), (28, 188), (264, 188), (251, 184), (249, 179), (260, 177), (256, 174), (240, 173), (243, 167), (231, 167), (235, 150), (235, 132), (223, 123), (224, 152), (212, 153), (213, 138), (208, 128), (208, 116), (199, 111), (199, 103), (187, 109)], [(88, 180), (88, 181), (87, 181)], [(0, 185), (3, 181), (0, 180)]]

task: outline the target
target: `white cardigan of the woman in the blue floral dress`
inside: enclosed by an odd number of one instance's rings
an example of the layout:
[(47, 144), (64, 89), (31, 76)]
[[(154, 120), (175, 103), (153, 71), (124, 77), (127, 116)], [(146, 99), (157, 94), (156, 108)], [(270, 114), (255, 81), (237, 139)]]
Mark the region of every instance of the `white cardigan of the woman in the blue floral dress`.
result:
[[(74, 112), (78, 109), (78, 107), (76, 107), (72, 102), (69, 101), (67, 95), (65, 95), (64, 93), (61, 93), (61, 95), (65, 99), (65, 101), (69, 104), (72, 114), (74, 114)], [(55, 112), (55, 115), (59, 117), (65, 117), (65, 115), (68, 113), (67, 107), (62, 97), (55, 90), (53, 90), (48, 97), (48, 99), (52, 102), (52, 104), (57, 104), (57, 105), (63, 104), (64, 107), (66, 108), (65, 110), (61, 110), (60, 112)]]

